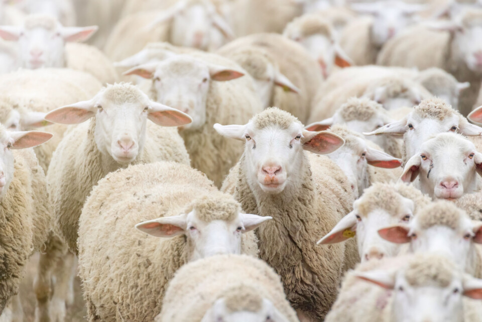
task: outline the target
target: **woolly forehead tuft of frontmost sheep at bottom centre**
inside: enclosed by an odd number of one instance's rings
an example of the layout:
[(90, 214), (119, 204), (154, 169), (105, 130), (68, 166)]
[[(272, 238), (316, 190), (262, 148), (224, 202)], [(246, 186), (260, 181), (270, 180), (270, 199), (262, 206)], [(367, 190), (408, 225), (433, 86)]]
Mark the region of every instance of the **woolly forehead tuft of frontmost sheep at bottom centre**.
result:
[(260, 290), (252, 285), (237, 284), (224, 290), (220, 296), (224, 298), (225, 306), (230, 312), (258, 312), (263, 305)]

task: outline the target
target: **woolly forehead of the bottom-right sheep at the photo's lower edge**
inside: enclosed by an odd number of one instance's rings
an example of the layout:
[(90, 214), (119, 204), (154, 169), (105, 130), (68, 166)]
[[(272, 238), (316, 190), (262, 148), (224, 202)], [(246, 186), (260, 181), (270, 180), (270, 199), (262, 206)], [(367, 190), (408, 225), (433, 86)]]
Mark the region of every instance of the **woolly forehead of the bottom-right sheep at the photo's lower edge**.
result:
[(420, 254), (410, 260), (403, 276), (409, 285), (414, 287), (448, 287), (456, 272), (457, 267), (449, 259), (433, 254)]

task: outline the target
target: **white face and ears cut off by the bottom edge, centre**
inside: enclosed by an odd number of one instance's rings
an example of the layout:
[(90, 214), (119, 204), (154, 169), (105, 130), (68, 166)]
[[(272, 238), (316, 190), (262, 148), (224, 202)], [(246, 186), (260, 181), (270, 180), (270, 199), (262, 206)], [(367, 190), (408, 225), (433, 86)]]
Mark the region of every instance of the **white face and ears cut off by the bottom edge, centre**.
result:
[(232, 310), (226, 306), (224, 298), (218, 299), (206, 312), (201, 322), (287, 322), (288, 319), (273, 305), (264, 298), (259, 310), (244, 309)]

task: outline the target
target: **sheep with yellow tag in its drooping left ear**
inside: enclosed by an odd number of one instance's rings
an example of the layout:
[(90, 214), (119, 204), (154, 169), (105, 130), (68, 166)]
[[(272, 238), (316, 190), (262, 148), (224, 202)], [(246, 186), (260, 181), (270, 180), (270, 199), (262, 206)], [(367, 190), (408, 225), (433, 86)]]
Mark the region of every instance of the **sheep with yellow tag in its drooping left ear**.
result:
[(333, 244), (356, 235), (362, 263), (371, 259), (397, 256), (402, 248), (382, 239), (380, 229), (409, 222), (431, 202), (413, 185), (375, 183), (353, 203), (353, 211), (343, 217), (318, 244)]

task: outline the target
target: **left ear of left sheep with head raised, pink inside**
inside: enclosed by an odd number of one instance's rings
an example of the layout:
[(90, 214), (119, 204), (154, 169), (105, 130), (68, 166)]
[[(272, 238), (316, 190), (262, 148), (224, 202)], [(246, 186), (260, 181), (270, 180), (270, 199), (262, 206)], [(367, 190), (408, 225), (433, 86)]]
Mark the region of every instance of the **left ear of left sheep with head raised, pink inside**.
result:
[(95, 115), (92, 101), (82, 101), (59, 107), (45, 115), (45, 120), (60, 124), (79, 124)]

